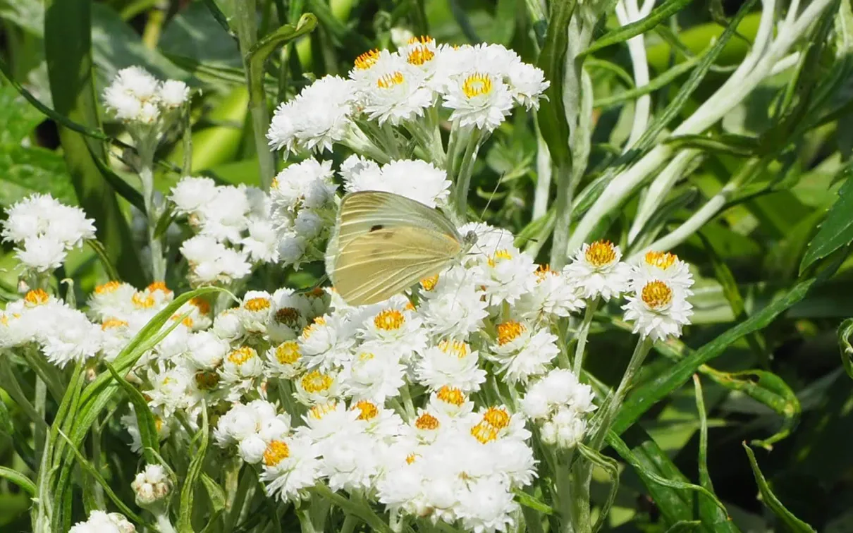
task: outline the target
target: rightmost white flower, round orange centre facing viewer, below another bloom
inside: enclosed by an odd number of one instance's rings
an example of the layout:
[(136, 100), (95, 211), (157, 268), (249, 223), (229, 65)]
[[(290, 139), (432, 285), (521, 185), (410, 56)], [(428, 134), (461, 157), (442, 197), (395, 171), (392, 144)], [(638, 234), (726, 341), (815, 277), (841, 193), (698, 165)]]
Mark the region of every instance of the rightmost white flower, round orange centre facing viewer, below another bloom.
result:
[(693, 305), (687, 300), (686, 289), (666, 281), (651, 280), (626, 296), (623, 305), (625, 320), (634, 322), (634, 333), (652, 340), (680, 337), (682, 327), (690, 323)]

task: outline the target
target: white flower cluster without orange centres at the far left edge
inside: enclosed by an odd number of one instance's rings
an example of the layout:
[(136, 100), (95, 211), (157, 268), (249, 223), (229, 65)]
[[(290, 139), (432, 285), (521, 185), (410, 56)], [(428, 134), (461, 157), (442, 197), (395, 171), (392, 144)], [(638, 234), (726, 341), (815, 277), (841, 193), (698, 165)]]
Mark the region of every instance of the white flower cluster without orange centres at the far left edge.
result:
[(95, 237), (93, 221), (82, 209), (66, 206), (50, 194), (28, 196), (6, 214), (0, 235), (15, 243), (15, 257), (25, 269), (40, 274), (59, 268), (69, 250)]

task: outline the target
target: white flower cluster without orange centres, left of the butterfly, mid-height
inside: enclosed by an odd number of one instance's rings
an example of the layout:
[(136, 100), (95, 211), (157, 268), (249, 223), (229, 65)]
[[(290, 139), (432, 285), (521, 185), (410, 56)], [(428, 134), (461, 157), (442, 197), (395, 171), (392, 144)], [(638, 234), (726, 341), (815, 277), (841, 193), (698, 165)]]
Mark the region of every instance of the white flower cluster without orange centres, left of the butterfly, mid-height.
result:
[(196, 232), (181, 246), (194, 286), (227, 284), (249, 275), (252, 264), (278, 260), (270, 197), (261, 189), (184, 177), (171, 189), (169, 199)]

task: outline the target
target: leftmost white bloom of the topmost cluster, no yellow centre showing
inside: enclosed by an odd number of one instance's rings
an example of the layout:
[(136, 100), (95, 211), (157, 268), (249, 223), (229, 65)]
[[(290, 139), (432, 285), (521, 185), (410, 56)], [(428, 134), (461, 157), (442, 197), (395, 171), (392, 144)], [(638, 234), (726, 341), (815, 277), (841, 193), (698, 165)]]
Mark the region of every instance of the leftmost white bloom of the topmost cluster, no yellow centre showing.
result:
[(292, 101), (281, 104), (270, 122), (267, 138), (276, 150), (331, 150), (351, 129), (356, 97), (353, 82), (324, 76), (305, 87)]

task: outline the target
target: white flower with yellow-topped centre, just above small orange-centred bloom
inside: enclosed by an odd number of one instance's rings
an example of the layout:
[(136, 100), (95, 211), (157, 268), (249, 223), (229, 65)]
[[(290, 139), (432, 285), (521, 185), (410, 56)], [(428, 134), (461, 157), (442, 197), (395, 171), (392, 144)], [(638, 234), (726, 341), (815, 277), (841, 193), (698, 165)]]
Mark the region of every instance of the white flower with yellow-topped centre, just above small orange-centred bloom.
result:
[(485, 370), (478, 366), (478, 352), (460, 340), (444, 339), (432, 346), (415, 363), (415, 374), (421, 385), (438, 390), (444, 385), (462, 392), (479, 391), (485, 381)]

